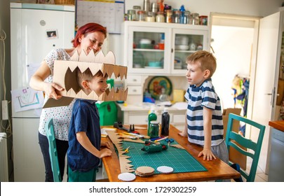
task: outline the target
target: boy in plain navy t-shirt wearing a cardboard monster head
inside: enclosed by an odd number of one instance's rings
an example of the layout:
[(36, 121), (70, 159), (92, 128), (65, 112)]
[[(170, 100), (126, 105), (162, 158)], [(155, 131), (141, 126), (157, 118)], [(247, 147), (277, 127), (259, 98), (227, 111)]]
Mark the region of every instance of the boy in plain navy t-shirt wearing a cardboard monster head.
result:
[[(79, 86), (86, 94), (94, 91), (100, 96), (107, 90), (107, 77), (101, 71), (95, 76), (90, 69), (83, 73), (76, 70)], [(101, 142), (100, 116), (95, 101), (76, 99), (69, 127), (68, 181), (93, 182), (96, 178), (100, 158), (110, 156), (110, 144)], [(100, 146), (107, 148), (100, 149)]]

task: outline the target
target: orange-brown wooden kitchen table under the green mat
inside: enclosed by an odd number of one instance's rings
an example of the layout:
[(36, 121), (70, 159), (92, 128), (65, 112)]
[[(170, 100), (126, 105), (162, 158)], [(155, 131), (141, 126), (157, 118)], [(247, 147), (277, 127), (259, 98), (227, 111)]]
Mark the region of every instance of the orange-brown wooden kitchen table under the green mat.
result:
[[(104, 126), (107, 127), (107, 126)], [(112, 127), (112, 126), (111, 126)], [(125, 127), (128, 127), (127, 125)], [(147, 127), (147, 125), (135, 125), (135, 131), (140, 132), (140, 134), (147, 134), (146, 129), (138, 130), (136, 127)], [(121, 132), (118, 130), (118, 132)], [(184, 147), (198, 162), (203, 165), (208, 171), (207, 172), (184, 172), (184, 173), (173, 173), (173, 174), (154, 174), (149, 177), (136, 176), (134, 182), (170, 182), (170, 181), (214, 181), (217, 179), (237, 179), (241, 176), (240, 173), (236, 172), (229, 165), (222, 162), (217, 158), (216, 160), (207, 161), (203, 160), (203, 157), (198, 158), (198, 153), (202, 151), (202, 147), (196, 144), (190, 144), (187, 141), (187, 137), (181, 137), (173, 125), (170, 125), (170, 135), (169, 138), (175, 139), (178, 144)], [(110, 139), (102, 138), (102, 141), (110, 141)], [(112, 155), (110, 157), (102, 158), (104, 164), (104, 169), (107, 172), (110, 182), (120, 182), (118, 179), (119, 174), (121, 174), (121, 169), (119, 165), (119, 158), (116, 154), (114, 146), (111, 146)]]

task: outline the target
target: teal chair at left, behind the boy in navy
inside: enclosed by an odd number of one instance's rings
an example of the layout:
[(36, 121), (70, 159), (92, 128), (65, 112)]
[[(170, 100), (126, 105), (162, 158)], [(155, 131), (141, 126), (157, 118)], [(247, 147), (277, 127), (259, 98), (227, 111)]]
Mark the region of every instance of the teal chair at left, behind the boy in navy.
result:
[(46, 137), (48, 138), (49, 144), (49, 156), (51, 169), (53, 170), (53, 181), (61, 182), (60, 168), (58, 162), (58, 150), (56, 148), (55, 136), (54, 136), (54, 126), (53, 118), (50, 118), (46, 123)]

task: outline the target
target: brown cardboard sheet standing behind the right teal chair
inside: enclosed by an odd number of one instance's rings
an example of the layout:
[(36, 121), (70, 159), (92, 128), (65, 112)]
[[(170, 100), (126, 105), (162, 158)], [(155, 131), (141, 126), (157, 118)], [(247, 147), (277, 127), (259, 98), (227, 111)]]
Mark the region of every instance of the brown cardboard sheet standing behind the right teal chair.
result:
[[(241, 109), (224, 109), (223, 111), (223, 125), (224, 125), (224, 138), (226, 139), (226, 129), (228, 125), (229, 120), (229, 113), (234, 113), (236, 115), (241, 114)], [(233, 131), (238, 133), (240, 128), (240, 123), (236, 120), (233, 122)], [(246, 149), (246, 148), (243, 148)], [(247, 157), (238, 151), (236, 151), (234, 148), (230, 148), (229, 153), (229, 160), (234, 163), (238, 163), (242, 169), (246, 169), (247, 167)]]

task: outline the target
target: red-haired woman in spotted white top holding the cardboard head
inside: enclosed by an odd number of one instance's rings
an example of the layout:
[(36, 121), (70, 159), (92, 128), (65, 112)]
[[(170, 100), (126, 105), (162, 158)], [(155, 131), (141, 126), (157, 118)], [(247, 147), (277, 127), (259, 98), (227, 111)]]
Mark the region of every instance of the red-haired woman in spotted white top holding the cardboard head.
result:
[[(41, 66), (32, 76), (29, 85), (34, 90), (45, 92), (45, 102), (49, 98), (60, 99), (61, 96), (57, 91), (63, 88), (53, 83), (53, 67), (55, 60), (70, 60), (70, 57), (77, 50), (79, 55), (85, 52), (86, 55), (93, 50), (99, 52), (107, 37), (107, 29), (97, 23), (88, 23), (80, 27), (72, 41), (74, 48), (58, 48), (51, 50), (41, 62)], [(39, 122), (39, 146), (43, 154), (43, 161), (46, 169), (46, 181), (53, 181), (53, 172), (50, 165), (50, 156), (48, 152), (48, 139), (46, 137), (46, 122), (53, 118), (56, 146), (58, 149), (58, 161), (60, 165), (61, 179), (65, 170), (65, 156), (68, 149), (68, 130), (72, 115), (74, 101), (69, 106), (54, 107), (43, 109)]]

